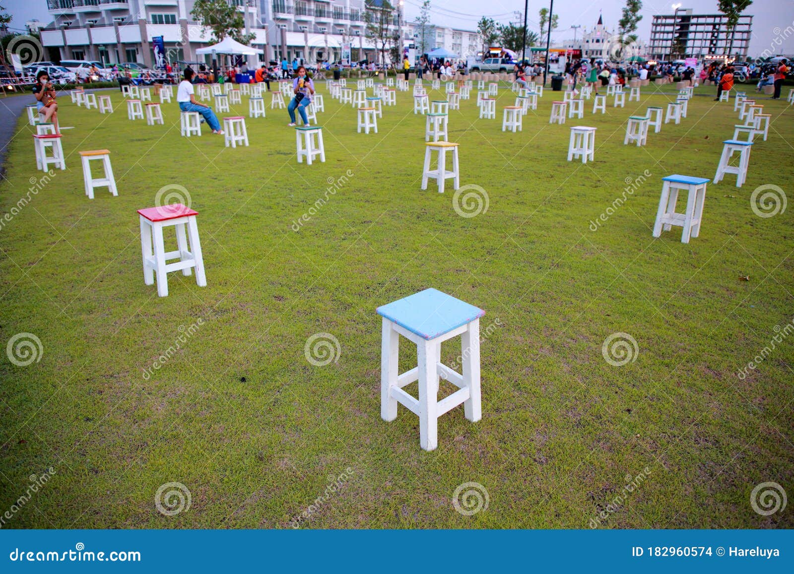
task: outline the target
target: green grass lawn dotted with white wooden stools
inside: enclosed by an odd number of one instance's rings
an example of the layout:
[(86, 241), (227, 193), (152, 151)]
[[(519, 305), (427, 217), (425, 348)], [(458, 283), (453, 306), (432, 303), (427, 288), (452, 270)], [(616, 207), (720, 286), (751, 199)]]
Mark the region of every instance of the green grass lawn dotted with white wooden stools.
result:
[[(118, 91), (104, 92), (112, 115), (64, 94), (67, 170), (45, 184), (21, 118), (0, 183), (0, 342), (33, 333), (42, 350), (24, 367), (0, 360), (3, 527), (288, 528), (310, 505), (302, 528), (794, 526), (790, 505), (763, 516), (750, 504), (759, 483), (794, 494), (794, 206), (762, 218), (750, 200), (774, 184), (794, 201), (794, 106), (757, 98), (769, 140), (757, 138), (743, 187), (709, 185), (700, 237), (684, 245), (680, 228), (651, 232), (661, 178), (713, 178), (739, 123), (711, 89), (643, 148), (623, 145), (626, 118), (672, 88), (625, 109), (608, 98), (604, 115), (591, 100), (565, 125), (549, 125), (561, 94), (547, 89), (521, 133), (501, 131), (514, 94), (502, 87), (498, 118), (480, 120), (473, 90), (449, 117), (461, 185), (488, 196), (470, 218), (451, 182), (420, 190), (425, 121), (410, 92), (364, 135), (318, 91), (326, 162), (311, 166), (269, 96), (267, 117), (246, 120), (250, 147), (232, 149), (206, 125), (180, 137), (176, 103), (148, 126)], [(247, 117), (247, 100), (232, 115)], [(571, 125), (598, 129), (595, 161), (566, 161)], [(118, 198), (83, 192), (77, 152), (96, 148), (110, 149)], [(198, 210), (208, 284), (172, 273), (161, 299), (144, 284), (136, 210), (174, 184)], [(491, 326), (483, 418), (445, 414), (431, 453), (403, 406), (380, 418), (375, 312), (427, 287)], [(339, 341), (330, 364), (306, 358), (315, 333)], [(637, 341), (623, 366), (602, 353), (613, 333)], [(449, 364), (460, 347), (442, 354)], [(415, 360), (403, 340), (400, 370)], [(442, 381), (440, 396), (452, 390)], [(172, 482), (191, 504), (168, 516), (155, 498)], [(488, 491), (472, 516), (452, 503), (468, 482)]]

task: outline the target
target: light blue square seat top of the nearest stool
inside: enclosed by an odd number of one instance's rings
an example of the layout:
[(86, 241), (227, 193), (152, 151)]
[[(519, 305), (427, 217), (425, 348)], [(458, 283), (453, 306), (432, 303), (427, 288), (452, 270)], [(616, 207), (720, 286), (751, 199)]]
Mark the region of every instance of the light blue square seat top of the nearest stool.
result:
[(485, 311), (437, 289), (426, 289), (376, 309), (381, 317), (422, 337), (425, 341), (479, 319)]

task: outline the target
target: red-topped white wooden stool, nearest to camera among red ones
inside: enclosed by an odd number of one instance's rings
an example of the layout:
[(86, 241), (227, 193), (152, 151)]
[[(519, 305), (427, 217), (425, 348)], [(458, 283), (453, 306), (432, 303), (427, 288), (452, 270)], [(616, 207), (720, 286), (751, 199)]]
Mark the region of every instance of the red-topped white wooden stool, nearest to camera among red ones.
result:
[[(196, 284), (206, 287), (204, 260), (201, 243), (198, 241), (198, 211), (181, 203), (138, 210), (141, 217), (141, 249), (144, 256), (144, 283), (152, 285), (157, 275), (157, 295), (168, 297), (168, 278), (166, 273), (182, 270), (183, 275), (191, 275), (196, 268)], [(163, 241), (163, 228), (174, 225), (176, 228), (176, 251), (166, 251)], [(187, 237), (186, 237), (187, 230)], [(188, 240), (191, 250), (188, 251)], [(153, 245), (152, 245), (153, 243)], [(153, 250), (152, 250), (153, 247)], [(169, 259), (179, 258), (175, 263)]]

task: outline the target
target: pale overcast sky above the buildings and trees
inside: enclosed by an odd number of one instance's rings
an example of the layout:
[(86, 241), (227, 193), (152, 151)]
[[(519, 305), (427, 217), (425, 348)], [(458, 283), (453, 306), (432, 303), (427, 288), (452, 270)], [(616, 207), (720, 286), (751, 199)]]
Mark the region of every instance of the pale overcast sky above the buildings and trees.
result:
[[(396, 3), (397, 0), (393, 0)], [(406, 17), (409, 21), (419, 13), (422, 0), (404, 0)], [(682, 2), (682, 9), (692, 8), (694, 13), (717, 13), (717, 0), (643, 0), (642, 21), (639, 23), (638, 35), (646, 41), (650, 36), (650, 23), (653, 14), (672, 14), (673, 2)], [(560, 16), (559, 28), (552, 33), (552, 41), (566, 40), (573, 37), (572, 25), (581, 25), (576, 33), (580, 35), (585, 29), (591, 29), (598, 21), (599, 13), (603, 13), (603, 22), (608, 29), (616, 29), (620, 19), (620, 11), (625, 0), (558, 0), (554, 3), (555, 13)], [(52, 18), (47, 11), (46, 0), (0, 0), (13, 15), (11, 27), (22, 29), (25, 21), (38, 18), (50, 22)], [(476, 29), (476, 22), (481, 16), (492, 17), (496, 21), (515, 21), (515, 11), (524, 10), (521, 0), (432, 0), (432, 21), (437, 25), (447, 25), (464, 29)], [(530, 29), (538, 29), (538, 10), (548, 7), (548, 2), (540, 3), (530, 0)], [(775, 53), (794, 54), (794, 0), (754, 0), (745, 11), (753, 18), (753, 39), (750, 42), (750, 56), (758, 56), (765, 49)], [(777, 38), (781, 44), (774, 43)]]

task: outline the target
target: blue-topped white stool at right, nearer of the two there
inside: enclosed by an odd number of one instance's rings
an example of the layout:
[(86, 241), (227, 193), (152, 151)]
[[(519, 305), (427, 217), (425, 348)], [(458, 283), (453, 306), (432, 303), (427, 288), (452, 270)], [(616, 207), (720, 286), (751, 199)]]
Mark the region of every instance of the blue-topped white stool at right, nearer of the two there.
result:
[[(703, 177), (689, 177), (688, 175), (668, 175), (661, 179), (659, 209), (656, 212), (656, 223), (653, 225), (653, 237), (661, 236), (661, 229), (672, 229), (679, 225), (684, 230), (681, 232), (681, 243), (689, 243), (689, 237), (697, 237), (700, 233), (700, 221), (703, 218), (703, 201), (706, 199), (706, 184), (708, 179)], [(676, 201), (678, 191), (687, 190), (687, 210), (684, 214), (676, 214)]]

